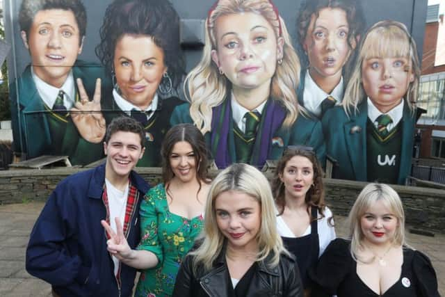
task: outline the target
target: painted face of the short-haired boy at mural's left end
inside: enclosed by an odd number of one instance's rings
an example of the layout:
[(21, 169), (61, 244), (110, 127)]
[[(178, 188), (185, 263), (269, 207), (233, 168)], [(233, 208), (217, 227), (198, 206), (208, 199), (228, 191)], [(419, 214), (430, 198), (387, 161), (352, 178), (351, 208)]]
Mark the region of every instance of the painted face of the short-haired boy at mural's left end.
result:
[(33, 19), (29, 36), (22, 31), (35, 74), (51, 86), (60, 88), (81, 54), (83, 40), (71, 10), (40, 10)]

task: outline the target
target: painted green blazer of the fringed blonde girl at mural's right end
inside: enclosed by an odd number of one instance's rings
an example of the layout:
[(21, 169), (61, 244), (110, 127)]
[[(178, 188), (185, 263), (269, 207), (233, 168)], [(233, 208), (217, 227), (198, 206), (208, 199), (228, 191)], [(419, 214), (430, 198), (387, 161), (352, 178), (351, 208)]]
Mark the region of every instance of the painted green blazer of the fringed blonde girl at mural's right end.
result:
[[(405, 178), (410, 175), (414, 143), (415, 112), (410, 111), (407, 102), (404, 101), (403, 105), (403, 115), (397, 123), (400, 137), (400, 151), (396, 156), (398, 162), (394, 162), (394, 156), (380, 156), (383, 170), (398, 170), (394, 180), (396, 184), (404, 184)], [(357, 113), (353, 111), (350, 118), (341, 106), (330, 109), (323, 117), (327, 154), (339, 162), (339, 178), (373, 181), (368, 175), (369, 122), (366, 100), (359, 104)]]

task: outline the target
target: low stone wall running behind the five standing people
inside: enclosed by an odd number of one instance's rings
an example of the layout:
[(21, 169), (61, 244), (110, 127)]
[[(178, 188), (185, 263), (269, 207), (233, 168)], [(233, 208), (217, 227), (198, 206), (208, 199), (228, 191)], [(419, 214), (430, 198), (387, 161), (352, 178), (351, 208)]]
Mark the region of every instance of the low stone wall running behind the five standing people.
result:
[[(83, 168), (0, 171), (0, 204), (46, 200), (60, 180)], [(161, 168), (137, 168), (149, 184), (161, 181)], [(216, 172), (211, 172), (216, 175)], [(270, 178), (270, 174), (267, 174)], [(325, 179), (326, 200), (334, 214), (347, 216), (364, 182)], [(421, 229), (445, 233), (445, 190), (393, 186), (401, 195), (407, 223)]]

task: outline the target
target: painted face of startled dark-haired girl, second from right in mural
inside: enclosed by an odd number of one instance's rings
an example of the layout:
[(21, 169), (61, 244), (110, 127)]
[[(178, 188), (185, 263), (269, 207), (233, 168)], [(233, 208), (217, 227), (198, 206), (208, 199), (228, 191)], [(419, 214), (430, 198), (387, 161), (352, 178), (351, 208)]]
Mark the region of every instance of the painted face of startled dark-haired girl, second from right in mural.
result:
[(309, 73), (314, 81), (334, 77), (340, 80), (355, 42), (348, 45), (349, 24), (340, 8), (323, 8), (312, 15), (303, 48), (309, 58)]

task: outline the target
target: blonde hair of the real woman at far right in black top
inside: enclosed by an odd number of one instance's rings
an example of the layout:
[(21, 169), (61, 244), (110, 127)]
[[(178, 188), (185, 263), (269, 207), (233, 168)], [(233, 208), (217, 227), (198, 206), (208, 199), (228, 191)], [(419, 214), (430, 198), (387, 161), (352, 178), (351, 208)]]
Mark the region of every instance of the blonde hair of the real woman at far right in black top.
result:
[(394, 245), (405, 245), (405, 212), (403, 211), (401, 198), (398, 196), (398, 193), (387, 184), (371, 183), (366, 185), (362, 192), (359, 193), (348, 216), (349, 236), (351, 239), (350, 253), (355, 260), (357, 260), (357, 252), (364, 249), (364, 234), (360, 220), (369, 207), (379, 200), (381, 200), (385, 204), (385, 207), (391, 211), (391, 214), (394, 214), (397, 218), (397, 228), (393, 241)]

